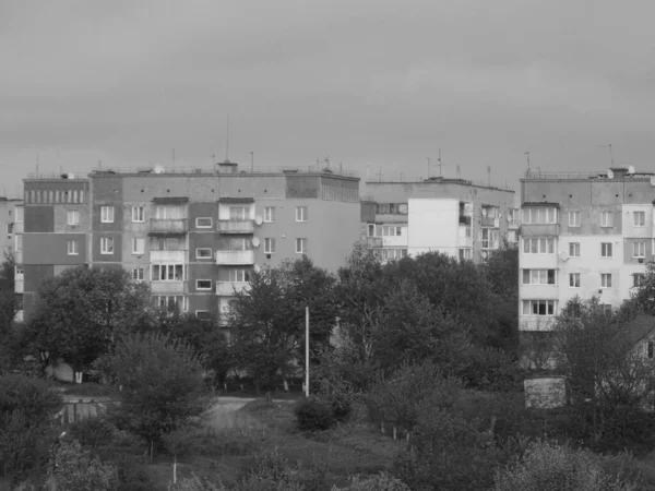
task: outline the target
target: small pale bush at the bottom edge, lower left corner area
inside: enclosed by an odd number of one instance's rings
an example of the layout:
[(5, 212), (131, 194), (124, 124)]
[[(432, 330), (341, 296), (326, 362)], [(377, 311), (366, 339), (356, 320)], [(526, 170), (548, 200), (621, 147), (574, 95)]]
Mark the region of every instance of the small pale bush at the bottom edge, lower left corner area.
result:
[(58, 489), (66, 491), (115, 491), (118, 471), (115, 466), (92, 457), (75, 440), (62, 441), (56, 448), (52, 466)]

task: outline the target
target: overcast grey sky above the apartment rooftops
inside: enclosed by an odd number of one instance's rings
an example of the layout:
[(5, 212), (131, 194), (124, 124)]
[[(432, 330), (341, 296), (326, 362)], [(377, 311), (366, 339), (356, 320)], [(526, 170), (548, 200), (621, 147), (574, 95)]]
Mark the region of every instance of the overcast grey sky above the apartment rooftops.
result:
[[(135, 7), (139, 5), (139, 7)], [(300, 166), (515, 183), (655, 170), (651, 0), (0, 0), (2, 188), (34, 171)], [(433, 167), (432, 173), (439, 173)], [(1, 192), (1, 189), (0, 189)]]

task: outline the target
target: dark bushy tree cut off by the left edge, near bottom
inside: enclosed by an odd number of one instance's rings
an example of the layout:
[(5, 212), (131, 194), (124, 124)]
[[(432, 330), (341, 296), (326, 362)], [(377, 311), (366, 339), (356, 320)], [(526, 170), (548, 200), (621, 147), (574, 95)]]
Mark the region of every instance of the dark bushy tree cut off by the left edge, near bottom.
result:
[(0, 376), (0, 477), (24, 478), (47, 458), (61, 396), (44, 381)]

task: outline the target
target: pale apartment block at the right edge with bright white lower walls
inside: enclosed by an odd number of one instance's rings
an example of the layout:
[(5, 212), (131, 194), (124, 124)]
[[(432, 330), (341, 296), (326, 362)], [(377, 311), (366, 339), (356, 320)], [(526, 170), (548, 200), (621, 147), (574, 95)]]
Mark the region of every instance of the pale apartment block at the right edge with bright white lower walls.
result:
[(521, 180), (520, 330), (547, 332), (574, 296), (608, 308), (653, 261), (655, 178), (633, 168)]

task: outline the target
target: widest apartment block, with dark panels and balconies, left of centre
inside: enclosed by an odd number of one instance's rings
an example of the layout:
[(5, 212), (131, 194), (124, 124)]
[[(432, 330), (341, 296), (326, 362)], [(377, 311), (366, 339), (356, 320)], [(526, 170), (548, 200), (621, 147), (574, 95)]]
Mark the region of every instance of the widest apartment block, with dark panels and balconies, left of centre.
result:
[(331, 272), (359, 240), (359, 179), (321, 168), (97, 170), (25, 179), (28, 315), (43, 278), (123, 267), (167, 310), (219, 315), (252, 271), (303, 254)]

